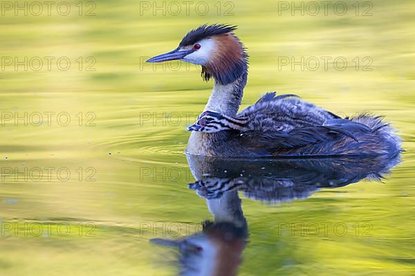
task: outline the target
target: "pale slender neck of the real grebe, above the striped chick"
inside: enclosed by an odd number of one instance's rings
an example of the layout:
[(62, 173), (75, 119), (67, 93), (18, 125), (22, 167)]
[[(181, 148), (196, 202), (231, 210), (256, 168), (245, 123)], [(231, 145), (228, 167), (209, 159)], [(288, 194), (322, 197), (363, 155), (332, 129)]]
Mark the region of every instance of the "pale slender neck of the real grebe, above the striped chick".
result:
[(204, 111), (215, 111), (228, 116), (237, 115), (247, 77), (247, 73), (244, 72), (241, 77), (228, 84), (221, 84), (215, 80), (212, 94)]

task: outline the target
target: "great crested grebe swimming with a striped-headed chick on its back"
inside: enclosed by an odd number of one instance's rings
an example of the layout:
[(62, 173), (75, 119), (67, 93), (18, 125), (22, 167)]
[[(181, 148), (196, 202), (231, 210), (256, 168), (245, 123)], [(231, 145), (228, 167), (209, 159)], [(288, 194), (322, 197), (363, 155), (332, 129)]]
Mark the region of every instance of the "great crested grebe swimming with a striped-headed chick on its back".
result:
[(210, 99), (189, 127), (187, 153), (221, 157), (398, 155), (400, 138), (381, 117), (340, 118), (295, 95), (267, 93), (239, 114), (248, 54), (236, 26), (202, 25), (171, 52), (147, 62), (181, 60), (214, 79)]

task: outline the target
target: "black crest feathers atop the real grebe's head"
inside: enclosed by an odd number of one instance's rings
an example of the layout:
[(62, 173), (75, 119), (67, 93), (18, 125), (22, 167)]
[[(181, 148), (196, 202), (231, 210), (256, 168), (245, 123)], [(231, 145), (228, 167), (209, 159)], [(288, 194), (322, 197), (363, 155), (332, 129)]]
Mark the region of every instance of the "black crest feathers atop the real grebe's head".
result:
[(233, 32), (237, 30), (237, 26), (230, 26), (230, 25), (223, 25), (223, 24), (203, 24), (199, 28), (193, 29), (190, 32), (187, 32), (185, 37), (183, 37), (182, 41), (178, 46), (188, 46), (200, 41), (202, 39), (207, 39), (208, 37), (212, 37), (218, 34), (225, 34), (228, 32)]

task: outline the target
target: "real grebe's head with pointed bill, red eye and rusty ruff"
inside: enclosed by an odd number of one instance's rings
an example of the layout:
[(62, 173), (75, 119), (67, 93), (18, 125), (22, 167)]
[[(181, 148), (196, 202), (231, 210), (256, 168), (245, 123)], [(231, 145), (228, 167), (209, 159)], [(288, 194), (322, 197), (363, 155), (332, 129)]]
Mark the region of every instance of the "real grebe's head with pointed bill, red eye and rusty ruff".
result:
[(236, 26), (202, 25), (188, 32), (178, 48), (148, 59), (147, 62), (181, 60), (202, 66), (202, 77), (219, 84), (237, 80), (248, 71), (248, 55), (233, 34)]

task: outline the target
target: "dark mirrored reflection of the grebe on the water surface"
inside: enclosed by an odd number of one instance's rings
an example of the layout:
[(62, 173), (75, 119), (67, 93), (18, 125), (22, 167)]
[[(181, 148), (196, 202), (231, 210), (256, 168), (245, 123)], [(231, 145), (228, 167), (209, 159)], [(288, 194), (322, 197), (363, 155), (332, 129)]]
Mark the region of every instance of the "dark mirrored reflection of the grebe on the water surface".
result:
[(363, 179), (379, 181), (399, 157), (344, 159), (217, 159), (187, 156), (196, 181), (189, 188), (206, 199), (213, 221), (179, 240), (152, 239), (177, 246), (180, 275), (237, 275), (248, 241), (238, 191), (269, 203), (305, 199), (321, 188), (338, 188)]

